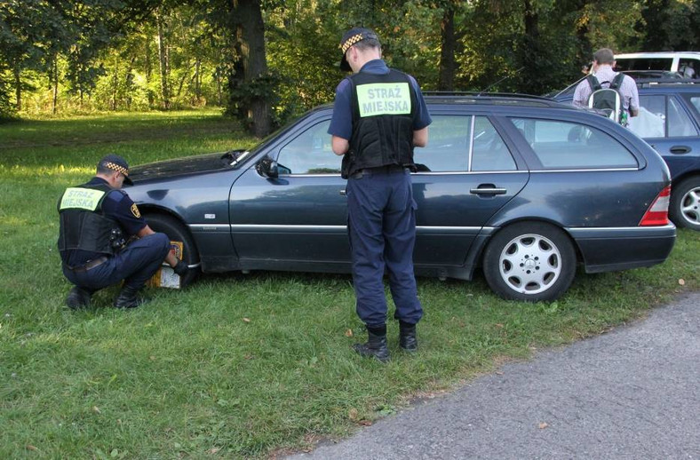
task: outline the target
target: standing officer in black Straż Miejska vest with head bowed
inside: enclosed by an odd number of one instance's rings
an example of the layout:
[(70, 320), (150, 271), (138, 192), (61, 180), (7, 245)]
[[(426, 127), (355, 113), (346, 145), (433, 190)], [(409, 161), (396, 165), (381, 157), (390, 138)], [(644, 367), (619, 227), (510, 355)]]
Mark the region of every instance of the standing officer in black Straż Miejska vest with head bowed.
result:
[(416, 80), (386, 67), (377, 34), (352, 28), (340, 42), (342, 70), (329, 134), (343, 157), (348, 232), (353, 252), (357, 314), (369, 335), (354, 345), (362, 356), (389, 359), (386, 347), (385, 268), (399, 320), (402, 349), (418, 350), (416, 324), (423, 316), (413, 274), (416, 202), (410, 170), (413, 147), (425, 147), (432, 122)]

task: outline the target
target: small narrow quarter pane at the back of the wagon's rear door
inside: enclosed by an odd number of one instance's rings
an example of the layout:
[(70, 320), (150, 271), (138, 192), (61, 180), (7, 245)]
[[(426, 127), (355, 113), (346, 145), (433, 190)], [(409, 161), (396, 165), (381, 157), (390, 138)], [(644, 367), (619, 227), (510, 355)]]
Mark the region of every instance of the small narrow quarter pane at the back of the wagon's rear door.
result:
[(513, 171), (517, 166), (496, 128), (485, 116), (474, 119), (471, 171)]

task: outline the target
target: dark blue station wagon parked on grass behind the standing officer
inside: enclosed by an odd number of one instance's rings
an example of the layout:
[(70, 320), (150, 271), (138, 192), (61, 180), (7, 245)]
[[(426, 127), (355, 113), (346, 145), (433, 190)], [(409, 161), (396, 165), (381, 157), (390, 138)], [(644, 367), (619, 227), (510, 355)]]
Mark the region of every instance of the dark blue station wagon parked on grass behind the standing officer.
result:
[[(553, 300), (588, 273), (653, 266), (672, 250), (670, 176), (630, 131), (544, 98), (428, 97), (416, 149), (418, 275)], [(350, 272), (346, 180), (319, 107), (251, 151), (133, 168), (129, 194), (203, 272)], [(184, 282), (191, 281), (191, 278)]]

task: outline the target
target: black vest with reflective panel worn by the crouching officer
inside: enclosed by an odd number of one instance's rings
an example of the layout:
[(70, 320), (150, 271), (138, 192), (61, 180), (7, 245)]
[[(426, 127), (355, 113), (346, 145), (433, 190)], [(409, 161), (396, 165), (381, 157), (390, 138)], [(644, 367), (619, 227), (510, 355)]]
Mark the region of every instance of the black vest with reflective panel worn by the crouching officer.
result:
[(121, 232), (113, 218), (102, 212), (102, 202), (112, 190), (107, 184), (76, 186), (66, 189), (57, 208), (60, 217), (59, 251), (64, 262), (68, 250), (85, 250), (114, 255), (110, 236)]

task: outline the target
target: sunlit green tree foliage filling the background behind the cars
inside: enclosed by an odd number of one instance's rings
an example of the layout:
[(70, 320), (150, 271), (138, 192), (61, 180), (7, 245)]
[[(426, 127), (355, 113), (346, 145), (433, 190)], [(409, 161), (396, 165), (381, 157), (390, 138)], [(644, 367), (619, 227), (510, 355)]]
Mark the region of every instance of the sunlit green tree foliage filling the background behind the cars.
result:
[[(245, 76), (238, 28), (250, 19), (240, 4), (2, 2), (0, 114), (15, 110), (18, 85), (23, 113), (51, 110), (47, 83), (54, 82), (68, 112), (159, 108), (167, 93), (172, 108), (230, 100), (230, 112), (248, 113), (264, 93), (280, 124), (333, 99), (344, 76), (338, 41), (353, 26), (374, 28), (389, 65), (415, 75), (426, 90), (438, 86), (446, 39), (455, 49), (455, 89), (529, 93), (570, 83), (602, 46), (700, 46), (700, 0), (266, 0), (259, 4), (267, 70)], [(447, 11), (455, 15), (453, 38), (441, 34)]]

